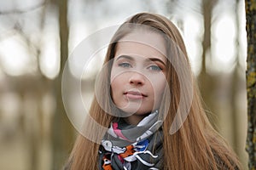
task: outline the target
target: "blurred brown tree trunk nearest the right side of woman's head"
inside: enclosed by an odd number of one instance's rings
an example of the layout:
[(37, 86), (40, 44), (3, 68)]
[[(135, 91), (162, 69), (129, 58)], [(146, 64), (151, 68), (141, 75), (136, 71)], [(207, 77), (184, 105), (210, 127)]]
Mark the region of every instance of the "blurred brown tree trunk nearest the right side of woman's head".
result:
[[(215, 90), (214, 77), (207, 73), (207, 57), (211, 57), (211, 27), (212, 27), (212, 8), (217, 3), (217, 0), (203, 0), (202, 1), (202, 14), (204, 17), (204, 37), (202, 42), (202, 59), (201, 59), (201, 72), (198, 77), (199, 87), (201, 90), (201, 96), (205, 102), (207, 110), (213, 111), (214, 101), (212, 101), (212, 95)], [(215, 111), (213, 111), (215, 112)], [(212, 125), (216, 125), (214, 117), (211, 114), (209, 116)]]

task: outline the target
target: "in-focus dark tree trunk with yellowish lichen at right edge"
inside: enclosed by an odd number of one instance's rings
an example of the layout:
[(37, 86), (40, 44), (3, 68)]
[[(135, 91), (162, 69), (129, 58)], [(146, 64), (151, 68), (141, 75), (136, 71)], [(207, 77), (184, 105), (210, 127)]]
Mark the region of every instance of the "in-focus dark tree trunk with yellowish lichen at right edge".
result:
[(256, 1), (246, 0), (247, 19), (247, 145), (249, 169), (256, 169)]

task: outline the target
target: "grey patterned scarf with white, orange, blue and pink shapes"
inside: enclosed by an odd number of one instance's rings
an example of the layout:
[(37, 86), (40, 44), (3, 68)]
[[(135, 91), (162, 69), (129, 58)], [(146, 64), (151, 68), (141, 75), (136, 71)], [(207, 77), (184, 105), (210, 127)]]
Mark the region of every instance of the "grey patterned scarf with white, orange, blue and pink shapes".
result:
[(143, 118), (137, 126), (127, 124), (121, 118), (112, 122), (100, 146), (99, 169), (161, 169), (161, 125), (158, 111)]

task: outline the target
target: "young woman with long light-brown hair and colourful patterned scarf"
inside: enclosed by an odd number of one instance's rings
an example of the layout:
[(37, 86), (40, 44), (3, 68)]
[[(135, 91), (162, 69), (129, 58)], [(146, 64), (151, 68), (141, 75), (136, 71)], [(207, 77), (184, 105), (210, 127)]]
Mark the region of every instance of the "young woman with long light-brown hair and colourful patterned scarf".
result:
[(241, 169), (207, 120), (183, 38), (159, 14), (115, 32), (89, 117), (65, 169)]

